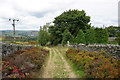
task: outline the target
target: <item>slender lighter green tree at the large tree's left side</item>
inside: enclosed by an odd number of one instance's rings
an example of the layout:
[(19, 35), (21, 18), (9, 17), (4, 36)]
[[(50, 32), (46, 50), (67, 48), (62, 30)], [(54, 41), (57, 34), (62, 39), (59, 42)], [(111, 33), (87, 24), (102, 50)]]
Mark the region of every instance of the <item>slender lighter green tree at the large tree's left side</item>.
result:
[(41, 44), (42, 46), (45, 46), (46, 43), (48, 43), (48, 41), (49, 41), (49, 35), (46, 27), (45, 26), (43, 28), (40, 27), (38, 43)]

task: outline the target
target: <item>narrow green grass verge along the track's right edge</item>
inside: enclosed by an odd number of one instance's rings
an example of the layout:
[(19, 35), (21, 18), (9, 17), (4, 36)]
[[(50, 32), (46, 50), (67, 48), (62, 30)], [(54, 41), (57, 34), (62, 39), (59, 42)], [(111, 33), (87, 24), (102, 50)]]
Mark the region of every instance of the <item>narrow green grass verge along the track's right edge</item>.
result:
[(65, 48), (65, 47), (56, 47), (56, 48), (60, 51), (60, 53), (62, 53), (63, 57), (66, 59), (66, 61), (67, 61), (67, 62), (70, 64), (70, 66), (72, 67), (74, 73), (75, 73), (76, 75), (78, 75), (78, 78), (83, 78), (83, 76), (84, 76), (84, 71), (83, 71), (83, 70), (78, 70), (77, 67), (76, 67), (76, 65), (67, 58), (67, 56), (66, 56), (66, 50), (67, 50), (67, 48)]

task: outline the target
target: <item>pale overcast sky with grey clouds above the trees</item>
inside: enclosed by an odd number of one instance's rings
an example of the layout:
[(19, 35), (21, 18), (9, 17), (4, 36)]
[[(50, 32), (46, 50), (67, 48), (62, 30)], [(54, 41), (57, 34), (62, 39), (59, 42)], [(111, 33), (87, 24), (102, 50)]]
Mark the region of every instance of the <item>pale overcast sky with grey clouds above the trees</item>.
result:
[(19, 19), (17, 30), (39, 30), (69, 9), (85, 10), (92, 26), (118, 26), (120, 0), (0, 0), (0, 30), (12, 30), (9, 18)]

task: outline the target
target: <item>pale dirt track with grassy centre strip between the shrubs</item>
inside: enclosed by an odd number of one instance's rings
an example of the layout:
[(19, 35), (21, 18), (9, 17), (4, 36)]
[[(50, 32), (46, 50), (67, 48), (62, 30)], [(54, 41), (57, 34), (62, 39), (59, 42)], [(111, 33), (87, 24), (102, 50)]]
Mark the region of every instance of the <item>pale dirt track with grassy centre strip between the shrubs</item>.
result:
[(39, 78), (76, 78), (72, 68), (57, 48), (49, 48), (50, 55)]

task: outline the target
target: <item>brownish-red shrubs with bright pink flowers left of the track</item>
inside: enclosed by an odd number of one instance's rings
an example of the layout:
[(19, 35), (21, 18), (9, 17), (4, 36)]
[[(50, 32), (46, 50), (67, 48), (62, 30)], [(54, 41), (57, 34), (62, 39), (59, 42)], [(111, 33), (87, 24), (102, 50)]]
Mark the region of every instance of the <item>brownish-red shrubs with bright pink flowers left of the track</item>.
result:
[(30, 48), (19, 50), (2, 60), (2, 77), (3, 78), (31, 78), (32, 71), (37, 71), (44, 63), (47, 56), (46, 51), (42, 48)]

